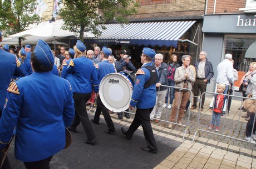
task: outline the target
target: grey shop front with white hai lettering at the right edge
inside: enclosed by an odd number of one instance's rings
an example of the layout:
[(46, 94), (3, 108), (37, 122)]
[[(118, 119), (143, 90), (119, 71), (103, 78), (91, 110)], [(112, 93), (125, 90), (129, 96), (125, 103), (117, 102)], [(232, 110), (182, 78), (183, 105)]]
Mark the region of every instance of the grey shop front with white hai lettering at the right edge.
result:
[[(214, 77), (217, 66), (224, 55), (233, 55), (234, 69), (237, 69), (239, 81), (249, 70), (249, 64), (256, 61), (256, 16), (255, 14), (206, 15), (203, 23), (203, 50), (213, 63)], [(212, 89), (209, 89), (212, 91)]]

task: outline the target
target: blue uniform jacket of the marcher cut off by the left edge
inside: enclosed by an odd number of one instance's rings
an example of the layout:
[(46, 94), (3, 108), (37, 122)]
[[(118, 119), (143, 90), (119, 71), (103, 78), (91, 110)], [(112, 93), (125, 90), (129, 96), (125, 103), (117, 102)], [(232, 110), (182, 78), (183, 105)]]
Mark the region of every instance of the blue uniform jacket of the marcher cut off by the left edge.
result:
[(7, 88), (11, 82), (12, 76), (25, 76), (26, 71), (21, 66), (18, 58), (4, 50), (0, 50), (0, 110), (3, 109), (6, 100)]

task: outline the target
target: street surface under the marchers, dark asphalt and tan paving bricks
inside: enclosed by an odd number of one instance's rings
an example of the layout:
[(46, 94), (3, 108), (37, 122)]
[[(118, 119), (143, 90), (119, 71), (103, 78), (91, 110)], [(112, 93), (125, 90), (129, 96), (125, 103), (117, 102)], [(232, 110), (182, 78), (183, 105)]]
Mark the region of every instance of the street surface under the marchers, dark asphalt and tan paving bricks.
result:
[[(210, 99), (205, 100), (205, 109), (200, 116), (198, 125), (198, 111), (191, 111), (190, 134), (185, 134), (186, 127), (174, 126), (168, 129), (168, 122), (161, 121), (151, 123), (159, 151), (157, 154), (147, 153), (140, 150), (145, 146), (142, 127), (135, 132), (132, 139), (126, 140), (121, 134), (120, 128), (130, 126), (134, 115), (130, 119), (120, 120), (116, 113), (111, 114), (116, 132), (105, 134), (107, 129), (105, 120), (101, 116), (100, 125), (92, 124), (96, 133), (95, 146), (83, 143), (86, 139), (82, 126), (78, 126), (78, 132), (72, 133), (72, 145), (62, 150), (53, 157), (50, 167), (52, 169), (79, 169), (79, 168), (254, 168), (256, 169), (255, 144), (241, 141), (245, 132), (245, 121), (238, 121), (240, 106), (238, 101), (232, 101), (231, 114), (221, 118), (220, 134), (232, 135), (241, 140), (215, 135), (209, 132), (196, 134), (198, 126), (208, 126), (211, 112), (207, 111)], [(87, 107), (89, 108), (89, 107)], [(92, 119), (92, 112), (89, 113)], [(162, 120), (168, 121), (169, 109), (164, 109)], [(185, 124), (188, 113), (184, 117)], [(242, 118), (243, 119), (243, 118)], [(240, 119), (241, 120), (241, 119)], [(13, 144), (14, 145), (14, 144)], [(21, 161), (17, 161), (13, 154), (13, 145), (8, 153), (9, 161), (14, 169), (23, 169)]]

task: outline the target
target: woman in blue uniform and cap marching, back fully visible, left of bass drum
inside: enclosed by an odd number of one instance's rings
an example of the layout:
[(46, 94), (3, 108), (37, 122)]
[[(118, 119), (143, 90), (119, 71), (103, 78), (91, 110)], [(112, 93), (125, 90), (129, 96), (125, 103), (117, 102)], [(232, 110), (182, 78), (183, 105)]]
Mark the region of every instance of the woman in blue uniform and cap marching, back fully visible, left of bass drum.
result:
[(75, 110), (79, 118), (75, 118), (68, 129), (76, 132), (76, 127), (81, 121), (87, 136), (85, 143), (93, 145), (95, 144), (95, 133), (89, 121), (86, 103), (91, 98), (92, 86), (95, 93), (99, 92), (97, 71), (93, 61), (86, 58), (86, 47), (80, 40), (77, 40), (74, 50), (75, 58), (70, 60), (67, 66), (67, 74), (72, 74), (73, 76), (71, 86)]

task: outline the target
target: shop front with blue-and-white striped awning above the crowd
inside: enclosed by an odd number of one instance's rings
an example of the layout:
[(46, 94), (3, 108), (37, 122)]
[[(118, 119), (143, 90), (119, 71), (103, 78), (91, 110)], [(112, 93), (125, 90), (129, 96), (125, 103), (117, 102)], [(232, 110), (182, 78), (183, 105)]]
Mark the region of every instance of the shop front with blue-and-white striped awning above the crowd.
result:
[(131, 54), (136, 68), (141, 66), (140, 55), (144, 47), (163, 54), (165, 62), (173, 53), (181, 57), (184, 54), (196, 55), (198, 52), (200, 24), (196, 21), (105, 24), (105, 27), (100, 37), (86, 38), (84, 42), (110, 47), (116, 58), (125, 49)]

